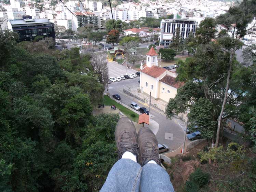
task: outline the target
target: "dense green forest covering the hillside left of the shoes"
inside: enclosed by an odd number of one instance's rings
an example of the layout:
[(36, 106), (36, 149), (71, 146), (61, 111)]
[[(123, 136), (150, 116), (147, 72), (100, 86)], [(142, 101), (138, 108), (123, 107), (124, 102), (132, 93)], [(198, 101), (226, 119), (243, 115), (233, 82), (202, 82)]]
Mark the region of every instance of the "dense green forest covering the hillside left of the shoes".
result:
[(99, 191), (117, 160), (118, 115), (92, 115), (104, 85), (91, 56), (0, 34), (0, 191)]

